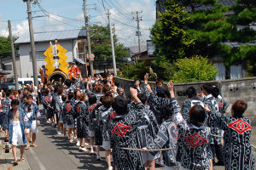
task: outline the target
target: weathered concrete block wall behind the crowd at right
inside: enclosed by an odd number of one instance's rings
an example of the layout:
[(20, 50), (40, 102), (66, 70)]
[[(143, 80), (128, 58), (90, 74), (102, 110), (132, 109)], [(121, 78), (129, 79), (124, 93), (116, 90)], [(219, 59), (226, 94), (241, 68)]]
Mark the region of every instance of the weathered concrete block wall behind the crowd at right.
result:
[[(129, 88), (133, 84), (132, 80), (127, 80), (124, 78), (114, 77), (114, 81), (120, 83), (120, 87), (125, 89), (126, 94), (129, 92)], [(206, 82), (190, 82), (190, 83), (179, 83), (175, 84), (175, 93), (179, 105), (183, 105), (183, 101), (186, 99), (185, 90), (190, 86), (194, 87), (197, 92), (200, 92), (200, 87)], [(216, 84), (221, 91), (221, 95), (228, 103), (228, 113), (230, 116), (230, 108), (232, 104), (237, 100), (241, 99), (247, 102), (247, 111), (244, 116), (250, 118), (253, 122), (253, 125), (256, 125), (256, 77), (250, 78), (241, 78), (234, 80), (225, 80), (225, 81), (213, 81), (210, 82)], [(155, 87), (154, 82), (149, 82), (150, 86)], [(166, 83), (164, 83), (166, 86)]]

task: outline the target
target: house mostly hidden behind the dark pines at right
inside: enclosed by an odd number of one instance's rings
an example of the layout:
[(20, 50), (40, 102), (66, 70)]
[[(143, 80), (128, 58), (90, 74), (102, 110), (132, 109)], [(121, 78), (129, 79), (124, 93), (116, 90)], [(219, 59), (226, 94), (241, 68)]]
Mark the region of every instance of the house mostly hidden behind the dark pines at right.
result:
[[(159, 19), (159, 12), (161, 14), (165, 13), (166, 8), (163, 6), (163, 4), (166, 3), (166, 0), (157, 0), (156, 1), (156, 19)], [(225, 6), (233, 6), (236, 4), (236, 0), (218, 0), (218, 3), (224, 4)], [(212, 5), (200, 5), (196, 6), (195, 8), (186, 7), (185, 10), (188, 12), (192, 11), (198, 11), (198, 10), (208, 10), (213, 8)], [(229, 16), (234, 14), (234, 12), (231, 10), (228, 10), (225, 13), (225, 16)], [(256, 42), (249, 42), (249, 45), (253, 45)], [(232, 48), (238, 48), (241, 43), (239, 42), (224, 42), (224, 44), (229, 45)], [(225, 80), (225, 79), (237, 79), (246, 77), (246, 63), (242, 62), (238, 65), (230, 65), (225, 66), (224, 65), (224, 59), (220, 56), (214, 56), (212, 57), (212, 62), (216, 66), (216, 69), (218, 69), (218, 75), (215, 77), (215, 80)]]

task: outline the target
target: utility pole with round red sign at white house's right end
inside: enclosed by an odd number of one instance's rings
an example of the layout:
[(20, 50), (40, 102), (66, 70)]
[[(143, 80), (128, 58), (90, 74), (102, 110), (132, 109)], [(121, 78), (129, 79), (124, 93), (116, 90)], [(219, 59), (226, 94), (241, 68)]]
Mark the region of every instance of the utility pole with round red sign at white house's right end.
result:
[[(89, 24), (88, 24), (88, 14), (86, 12), (86, 0), (83, 0), (83, 6), (84, 6), (84, 21), (85, 21), (85, 28), (86, 28), (86, 37), (87, 37), (87, 43), (88, 43), (88, 54), (91, 54), (91, 48), (90, 48), (90, 31), (89, 31)], [(93, 76), (93, 61), (90, 59), (90, 75)]]

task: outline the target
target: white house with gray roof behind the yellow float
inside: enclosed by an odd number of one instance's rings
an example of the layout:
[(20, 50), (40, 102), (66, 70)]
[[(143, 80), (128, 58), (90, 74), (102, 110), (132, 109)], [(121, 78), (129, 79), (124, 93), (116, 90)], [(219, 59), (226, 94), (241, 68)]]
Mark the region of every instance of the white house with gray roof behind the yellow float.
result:
[[(58, 40), (59, 44), (67, 49), (67, 62), (74, 61), (82, 57), (83, 52), (79, 51), (79, 39), (86, 38), (85, 30), (67, 30), (67, 31), (46, 31), (46, 32), (36, 32), (34, 33), (34, 41), (36, 48), (36, 60), (38, 69), (42, 65), (46, 65), (44, 61), (44, 51), (49, 48), (49, 42), (54, 42), (55, 39)], [(30, 37), (27, 34), (21, 35), (15, 44), (19, 45), (20, 54), (20, 77), (32, 77), (32, 55), (31, 55), (31, 44)], [(39, 74), (38, 74), (39, 75)]]

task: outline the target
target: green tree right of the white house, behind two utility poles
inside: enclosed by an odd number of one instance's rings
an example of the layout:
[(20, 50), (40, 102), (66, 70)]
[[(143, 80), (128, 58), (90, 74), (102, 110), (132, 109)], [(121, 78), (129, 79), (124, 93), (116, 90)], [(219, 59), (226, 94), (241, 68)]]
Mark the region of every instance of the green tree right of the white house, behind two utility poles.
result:
[[(108, 26), (93, 25), (90, 26), (90, 29), (96, 29), (96, 32), (90, 33), (91, 52), (96, 56), (94, 62), (95, 67), (102, 69), (102, 64), (112, 65), (113, 59)], [(113, 42), (116, 62), (121, 63), (129, 54), (125, 46), (118, 42), (116, 36), (113, 36)]]

